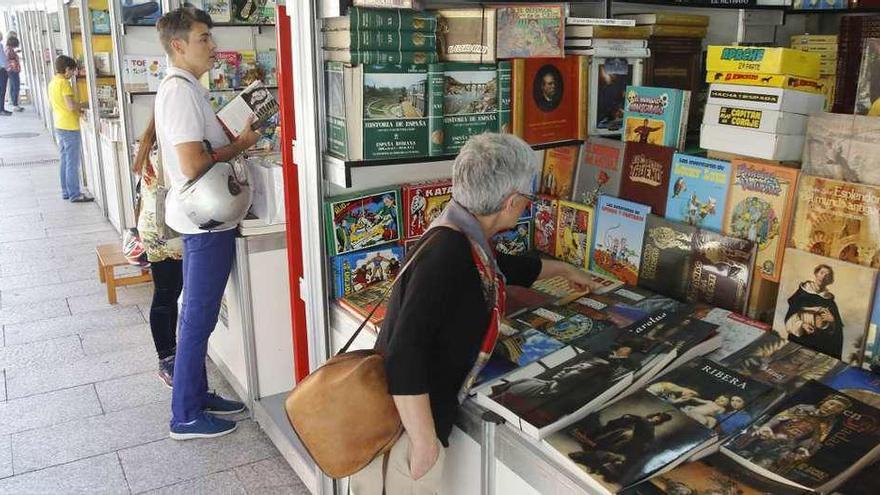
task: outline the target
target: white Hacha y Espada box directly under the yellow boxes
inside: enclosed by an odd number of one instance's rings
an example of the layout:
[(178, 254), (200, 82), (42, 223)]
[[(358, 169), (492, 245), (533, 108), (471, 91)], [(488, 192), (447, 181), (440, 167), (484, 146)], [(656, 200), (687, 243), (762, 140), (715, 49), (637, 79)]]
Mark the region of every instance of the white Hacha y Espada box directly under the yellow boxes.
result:
[(825, 107), (825, 96), (793, 89), (712, 84), (709, 86), (706, 104), (809, 115), (822, 111)]

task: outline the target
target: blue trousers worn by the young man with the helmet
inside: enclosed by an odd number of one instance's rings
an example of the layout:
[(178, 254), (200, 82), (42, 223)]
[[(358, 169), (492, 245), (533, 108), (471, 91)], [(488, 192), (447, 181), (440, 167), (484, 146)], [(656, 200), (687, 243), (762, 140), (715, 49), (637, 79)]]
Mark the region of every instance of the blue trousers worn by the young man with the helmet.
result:
[(235, 229), (183, 235), (183, 305), (177, 330), (171, 424), (195, 420), (205, 409), (208, 338), (235, 257)]

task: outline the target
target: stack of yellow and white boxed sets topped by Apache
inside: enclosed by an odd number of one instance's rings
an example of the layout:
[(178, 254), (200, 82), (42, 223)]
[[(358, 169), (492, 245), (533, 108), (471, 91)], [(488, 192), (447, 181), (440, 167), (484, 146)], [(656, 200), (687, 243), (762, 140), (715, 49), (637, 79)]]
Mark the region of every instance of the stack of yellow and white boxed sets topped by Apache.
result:
[(799, 160), (807, 116), (819, 112), (819, 55), (789, 48), (710, 46), (700, 146), (766, 160)]

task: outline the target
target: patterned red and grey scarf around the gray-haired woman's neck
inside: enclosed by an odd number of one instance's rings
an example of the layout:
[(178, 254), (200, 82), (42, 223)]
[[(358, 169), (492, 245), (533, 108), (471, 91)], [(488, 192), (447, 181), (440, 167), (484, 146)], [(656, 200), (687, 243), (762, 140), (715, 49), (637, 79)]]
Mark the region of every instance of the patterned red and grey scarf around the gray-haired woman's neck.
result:
[(480, 223), (471, 212), (461, 206), (455, 199), (449, 201), (443, 213), (431, 224), (430, 229), (436, 227), (450, 227), (468, 238), (471, 244), (471, 255), (474, 258), (474, 265), (476, 265), (477, 272), (480, 275), (483, 297), (492, 311), (489, 317), (489, 327), (486, 329), (483, 343), (480, 345), (480, 352), (477, 354), (477, 359), (471, 371), (468, 372), (461, 389), (458, 391), (458, 402), (460, 404), (467, 398), (471, 386), (473, 386), (474, 381), (477, 379), (477, 375), (480, 374), (480, 371), (489, 361), (489, 357), (492, 356), (492, 351), (495, 350), (495, 343), (498, 341), (499, 323), (504, 315), (505, 279), (501, 270), (498, 269), (495, 252), (489, 246), (489, 241), (483, 234)]

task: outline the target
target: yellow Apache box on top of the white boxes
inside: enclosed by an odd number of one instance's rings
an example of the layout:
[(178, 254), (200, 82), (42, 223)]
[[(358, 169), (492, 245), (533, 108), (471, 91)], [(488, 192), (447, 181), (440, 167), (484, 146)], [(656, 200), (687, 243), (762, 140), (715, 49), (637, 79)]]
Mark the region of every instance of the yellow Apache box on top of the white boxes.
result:
[(816, 79), (819, 77), (819, 55), (791, 48), (713, 45), (706, 55), (706, 70), (788, 74)]

